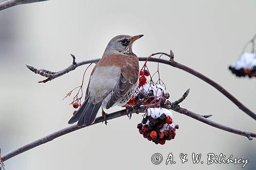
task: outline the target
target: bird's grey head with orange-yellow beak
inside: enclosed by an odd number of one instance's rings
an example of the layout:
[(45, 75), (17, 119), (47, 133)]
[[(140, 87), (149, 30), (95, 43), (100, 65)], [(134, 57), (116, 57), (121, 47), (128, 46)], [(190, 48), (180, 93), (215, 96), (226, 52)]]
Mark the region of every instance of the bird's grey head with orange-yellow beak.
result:
[[(108, 54), (133, 54), (132, 52), (132, 46), (133, 42), (143, 35), (135, 35), (135, 36), (130, 36), (130, 35), (118, 35), (112, 38), (106, 46), (105, 52), (103, 55), (108, 55)], [(133, 54), (134, 55), (134, 54)]]

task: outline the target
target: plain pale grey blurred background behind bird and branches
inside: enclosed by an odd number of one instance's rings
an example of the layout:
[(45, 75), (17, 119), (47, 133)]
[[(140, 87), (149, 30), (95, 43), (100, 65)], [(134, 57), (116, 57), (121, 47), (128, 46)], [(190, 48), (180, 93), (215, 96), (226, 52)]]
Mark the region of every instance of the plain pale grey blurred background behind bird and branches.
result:
[[(227, 69), (256, 31), (255, 1), (47, 1), (0, 12), (0, 148), (9, 152), (68, 126), (72, 98), (63, 96), (81, 83), (86, 66), (46, 84), (25, 64), (60, 70), (77, 61), (99, 58), (118, 34), (145, 36), (133, 51), (140, 57), (173, 50), (176, 60), (220, 83), (252, 111), (255, 79), (236, 78)], [(142, 64), (142, 63), (141, 63)], [(150, 64), (154, 70), (156, 63)], [(92, 69), (92, 67), (91, 67)], [(90, 70), (91, 70), (90, 69)], [(86, 81), (89, 77), (86, 76)], [(212, 120), (246, 131), (255, 120), (219, 91), (186, 72), (161, 65), (161, 75), (174, 101), (190, 88), (181, 106)], [(118, 110), (116, 107), (111, 111)], [(207, 154), (248, 158), (255, 169), (256, 140), (227, 133), (185, 115), (174, 113), (180, 125), (175, 140), (155, 145), (138, 133), (141, 115), (120, 117), (108, 126), (97, 124), (59, 137), (5, 162), (6, 169), (241, 169), (240, 164), (206, 164)], [(176, 164), (151, 162), (154, 153), (164, 160), (172, 152)], [(193, 164), (191, 154), (204, 164)], [(180, 153), (188, 154), (182, 164)]]

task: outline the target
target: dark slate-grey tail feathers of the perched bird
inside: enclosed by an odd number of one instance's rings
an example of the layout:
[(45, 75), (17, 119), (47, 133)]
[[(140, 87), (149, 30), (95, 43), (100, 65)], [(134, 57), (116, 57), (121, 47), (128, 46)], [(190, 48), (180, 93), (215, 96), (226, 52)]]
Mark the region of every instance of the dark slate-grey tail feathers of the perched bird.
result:
[(68, 122), (69, 124), (73, 124), (78, 121), (77, 126), (89, 126), (94, 123), (102, 102), (96, 104), (90, 103), (89, 97), (90, 95), (87, 96), (82, 106), (77, 110), (73, 117), (71, 117)]

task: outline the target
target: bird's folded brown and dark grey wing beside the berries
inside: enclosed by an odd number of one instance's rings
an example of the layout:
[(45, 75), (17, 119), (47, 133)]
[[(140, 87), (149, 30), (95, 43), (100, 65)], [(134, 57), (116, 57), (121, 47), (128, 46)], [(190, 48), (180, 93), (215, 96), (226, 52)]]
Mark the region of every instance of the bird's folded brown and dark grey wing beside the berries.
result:
[[(134, 56), (135, 57), (135, 56)], [(121, 66), (121, 74), (119, 81), (114, 89), (111, 99), (106, 104), (106, 109), (112, 107), (117, 101), (124, 98), (124, 96), (131, 92), (134, 85), (137, 84), (139, 78), (139, 64), (138, 59), (127, 61)], [(129, 99), (127, 99), (129, 100)]]

